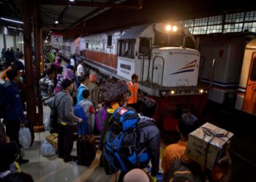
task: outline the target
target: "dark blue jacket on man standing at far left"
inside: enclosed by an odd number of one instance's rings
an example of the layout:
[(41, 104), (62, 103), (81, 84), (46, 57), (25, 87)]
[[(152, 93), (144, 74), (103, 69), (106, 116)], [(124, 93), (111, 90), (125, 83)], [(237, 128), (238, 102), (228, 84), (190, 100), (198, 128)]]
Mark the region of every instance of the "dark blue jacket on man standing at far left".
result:
[(9, 121), (24, 122), (23, 106), (15, 82), (4, 84), (4, 103), (6, 104), (4, 119)]

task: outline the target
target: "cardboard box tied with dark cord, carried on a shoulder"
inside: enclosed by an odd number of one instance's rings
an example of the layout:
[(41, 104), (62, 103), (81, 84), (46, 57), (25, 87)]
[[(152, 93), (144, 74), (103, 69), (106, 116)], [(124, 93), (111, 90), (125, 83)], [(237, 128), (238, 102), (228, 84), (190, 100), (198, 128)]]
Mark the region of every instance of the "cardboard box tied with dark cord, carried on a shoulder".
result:
[(185, 154), (200, 165), (212, 170), (232, 136), (232, 132), (206, 122), (189, 134)]

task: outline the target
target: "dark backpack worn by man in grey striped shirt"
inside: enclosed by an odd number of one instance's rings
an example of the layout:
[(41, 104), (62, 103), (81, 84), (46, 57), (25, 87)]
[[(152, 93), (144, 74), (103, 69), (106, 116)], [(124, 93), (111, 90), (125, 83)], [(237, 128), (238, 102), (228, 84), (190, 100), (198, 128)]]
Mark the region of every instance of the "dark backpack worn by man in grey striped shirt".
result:
[[(64, 98), (66, 94), (64, 94), (62, 98)], [(59, 100), (59, 103), (61, 103), (61, 99)], [(57, 132), (59, 133), (59, 122), (58, 122), (58, 106), (59, 103), (56, 105), (56, 98), (54, 98), (53, 101), (53, 108), (50, 110), (50, 133)]]

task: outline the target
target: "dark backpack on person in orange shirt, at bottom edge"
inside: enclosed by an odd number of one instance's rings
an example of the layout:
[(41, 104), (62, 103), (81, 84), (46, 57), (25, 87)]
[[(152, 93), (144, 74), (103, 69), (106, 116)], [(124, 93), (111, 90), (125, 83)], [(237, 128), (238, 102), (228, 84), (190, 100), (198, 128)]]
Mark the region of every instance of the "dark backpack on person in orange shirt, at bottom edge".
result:
[(188, 181), (202, 182), (203, 173), (201, 167), (196, 162), (184, 162), (182, 159), (174, 160), (167, 173), (167, 181)]

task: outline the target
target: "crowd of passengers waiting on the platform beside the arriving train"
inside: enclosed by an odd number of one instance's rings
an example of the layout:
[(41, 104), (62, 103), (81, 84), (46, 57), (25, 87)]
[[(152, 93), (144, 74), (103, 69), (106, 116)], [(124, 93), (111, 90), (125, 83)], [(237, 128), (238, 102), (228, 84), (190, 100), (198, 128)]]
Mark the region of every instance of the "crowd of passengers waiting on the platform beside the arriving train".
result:
[[(82, 122), (82, 119), (74, 114), (75, 104), (83, 107), (83, 111), (91, 123), (91, 130), (95, 135), (100, 135), (99, 150), (104, 151), (105, 140), (108, 130), (110, 130), (110, 117), (104, 117), (102, 130), (95, 123), (95, 114), (105, 109), (109, 114), (113, 114), (118, 108), (127, 108), (138, 114), (140, 123), (146, 124), (142, 127), (139, 135), (140, 141), (135, 145), (139, 150), (146, 149), (149, 158), (135, 167), (127, 167), (129, 170), (121, 170), (118, 181), (230, 181), (231, 161), (226, 150), (222, 158), (217, 161), (213, 170), (206, 167), (195, 165), (191, 159), (186, 157), (185, 149), (189, 133), (199, 127), (198, 119), (192, 113), (186, 111), (181, 114), (178, 121), (177, 131), (181, 138), (177, 143), (167, 145), (163, 151), (162, 161), (160, 160), (160, 132), (157, 127), (157, 121), (153, 119), (157, 111), (157, 102), (138, 93), (138, 75), (133, 74), (131, 80), (126, 82), (127, 92), (122, 92), (115, 100), (111, 102), (100, 103), (99, 90), (104, 80), (97, 78), (97, 75), (86, 69), (83, 61), (77, 61), (73, 56), (67, 66), (61, 59), (60, 50), (50, 50), (50, 60), (45, 63), (45, 70), (42, 78), (39, 80), (39, 88), (42, 100), (46, 106), (53, 108), (56, 103), (59, 137), (58, 137), (58, 155), (64, 162), (75, 161), (76, 157), (71, 155), (74, 130), (72, 125)], [(23, 55), (20, 54), (20, 58)], [(76, 65), (76, 63), (79, 63)], [(20, 172), (19, 165), (29, 162), (28, 159), (22, 159), (20, 154), (20, 143), (18, 132), (20, 127), (24, 127), (26, 121), (23, 111), (25, 107), (20, 90), (20, 79), (23, 77), (24, 66), (20, 60), (13, 61), (8, 70), (4, 71), (4, 129), (0, 130), (0, 181), (33, 181), (30, 175)], [(116, 84), (121, 81), (116, 81)], [(109, 94), (115, 95), (115, 90), (105, 90)], [(118, 94), (118, 93), (116, 93)], [(111, 110), (109, 110), (111, 108)], [(102, 118), (101, 118), (102, 119)], [(100, 133), (100, 134), (99, 134)], [(7, 152), (8, 151), (8, 152)], [(137, 151), (137, 154), (140, 151)], [(182, 163), (180, 162), (182, 161)], [(179, 162), (179, 163), (178, 163)], [(179, 167), (177, 167), (177, 163)], [(181, 165), (182, 164), (182, 165)], [(193, 164), (192, 167), (187, 167)], [(99, 162), (100, 167), (108, 170), (111, 165), (105, 160), (102, 154)], [(159, 173), (159, 166), (162, 167)], [(185, 167), (185, 170), (182, 170)], [(199, 172), (198, 172), (199, 169)], [(195, 173), (197, 170), (197, 173)], [(116, 169), (115, 172), (117, 172)], [(107, 173), (107, 172), (106, 172)], [(111, 174), (111, 173), (110, 173)]]

